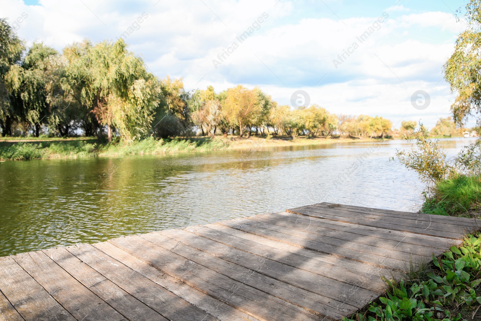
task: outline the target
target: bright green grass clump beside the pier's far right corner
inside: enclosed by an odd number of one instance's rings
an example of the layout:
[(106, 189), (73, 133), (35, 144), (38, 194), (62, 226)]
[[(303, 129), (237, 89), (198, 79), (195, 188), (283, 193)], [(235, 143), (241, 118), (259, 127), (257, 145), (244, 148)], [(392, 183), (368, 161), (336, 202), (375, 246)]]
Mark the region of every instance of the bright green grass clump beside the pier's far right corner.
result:
[(481, 211), (481, 175), (459, 176), (438, 182), (424, 202), (426, 214), (473, 217)]

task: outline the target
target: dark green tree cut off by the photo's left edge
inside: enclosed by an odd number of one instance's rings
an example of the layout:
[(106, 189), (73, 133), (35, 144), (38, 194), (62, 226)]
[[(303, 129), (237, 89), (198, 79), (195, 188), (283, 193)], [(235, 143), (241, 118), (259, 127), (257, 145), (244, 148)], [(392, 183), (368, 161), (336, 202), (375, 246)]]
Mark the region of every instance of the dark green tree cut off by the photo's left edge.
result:
[(12, 122), (16, 120), (12, 91), (18, 86), (20, 62), (24, 43), (18, 38), (5, 18), (0, 19), (0, 127), (2, 136), (12, 135)]

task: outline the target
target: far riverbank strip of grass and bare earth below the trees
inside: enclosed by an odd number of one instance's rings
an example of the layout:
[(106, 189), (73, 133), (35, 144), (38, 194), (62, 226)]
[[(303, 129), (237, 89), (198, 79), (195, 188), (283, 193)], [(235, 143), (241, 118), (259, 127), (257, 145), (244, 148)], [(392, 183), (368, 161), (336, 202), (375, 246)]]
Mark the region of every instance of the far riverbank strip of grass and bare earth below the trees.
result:
[(254, 149), (269, 147), (323, 145), (355, 141), (379, 141), (358, 138), (306, 138), (257, 137), (249, 139), (232, 137), (195, 137), (189, 139), (154, 139), (141, 141), (103, 143), (95, 138), (77, 139), (25, 139), (0, 141), (0, 161), (29, 159), (69, 159), (80, 157), (121, 157), (141, 154), (172, 154), (206, 152), (228, 149)]

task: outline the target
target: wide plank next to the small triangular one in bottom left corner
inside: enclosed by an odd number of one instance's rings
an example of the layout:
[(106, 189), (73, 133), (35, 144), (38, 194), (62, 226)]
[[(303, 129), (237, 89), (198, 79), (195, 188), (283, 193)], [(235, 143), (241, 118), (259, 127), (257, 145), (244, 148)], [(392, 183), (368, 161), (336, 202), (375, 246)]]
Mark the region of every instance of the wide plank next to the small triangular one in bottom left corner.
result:
[(76, 320), (12, 257), (0, 257), (0, 271), (2, 293), (26, 321)]

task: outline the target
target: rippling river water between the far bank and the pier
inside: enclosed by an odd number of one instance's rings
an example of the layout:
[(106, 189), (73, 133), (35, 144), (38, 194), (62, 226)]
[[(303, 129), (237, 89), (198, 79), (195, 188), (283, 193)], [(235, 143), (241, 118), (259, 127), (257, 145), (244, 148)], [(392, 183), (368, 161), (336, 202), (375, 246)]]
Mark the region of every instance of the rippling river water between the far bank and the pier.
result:
[[(472, 139), (444, 140), (449, 154)], [(334, 202), (418, 210), (402, 141), (0, 165), (0, 256)]]

